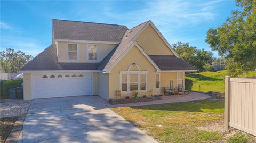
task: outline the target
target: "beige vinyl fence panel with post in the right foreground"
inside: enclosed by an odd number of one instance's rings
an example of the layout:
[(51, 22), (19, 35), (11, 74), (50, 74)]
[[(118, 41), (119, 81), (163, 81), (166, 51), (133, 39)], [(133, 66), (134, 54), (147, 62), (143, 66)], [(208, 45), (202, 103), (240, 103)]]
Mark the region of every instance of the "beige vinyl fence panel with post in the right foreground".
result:
[(256, 136), (256, 79), (225, 77), (225, 129)]

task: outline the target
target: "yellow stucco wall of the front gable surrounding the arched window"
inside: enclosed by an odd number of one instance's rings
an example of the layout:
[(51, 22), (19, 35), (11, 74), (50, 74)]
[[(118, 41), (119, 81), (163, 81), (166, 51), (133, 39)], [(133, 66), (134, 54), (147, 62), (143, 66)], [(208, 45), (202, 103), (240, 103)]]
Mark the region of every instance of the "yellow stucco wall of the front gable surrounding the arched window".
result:
[[(139, 49), (134, 46), (131, 50), (119, 61), (109, 74), (109, 98), (116, 99), (116, 90), (119, 90), (119, 75), (120, 71), (127, 71), (129, 66), (135, 63), (139, 66), (141, 71), (148, 71), (147, 76), (147, 92), (139, 92), (139, 95), (149, 95), (150, 89), (153, 89), (154, 94), (156, 94), (156, 69), (147, 60), (147, 58), (139, 51)], [(132, 69), (135, 70), (135, 69)], [(99, 77), (100, 78), (100, 77)], [(121, 94), (122, 97), (132, 94)]]

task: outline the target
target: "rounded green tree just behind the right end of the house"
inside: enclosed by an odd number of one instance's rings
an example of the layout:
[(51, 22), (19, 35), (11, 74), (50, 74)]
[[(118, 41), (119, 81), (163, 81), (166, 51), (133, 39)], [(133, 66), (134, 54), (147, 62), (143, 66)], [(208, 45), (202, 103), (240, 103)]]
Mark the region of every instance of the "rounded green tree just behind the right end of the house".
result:
[(213, 60), (212, 52), (204, 51), (204, 49), (197, 49), (196, 47), (189, 46), (188, 43), (181, 42), (172, 44), (172, 48), (184, 61), (194, 65), (199, 72), (213, 70), (212, 68), (209, 68), (210, 63)]

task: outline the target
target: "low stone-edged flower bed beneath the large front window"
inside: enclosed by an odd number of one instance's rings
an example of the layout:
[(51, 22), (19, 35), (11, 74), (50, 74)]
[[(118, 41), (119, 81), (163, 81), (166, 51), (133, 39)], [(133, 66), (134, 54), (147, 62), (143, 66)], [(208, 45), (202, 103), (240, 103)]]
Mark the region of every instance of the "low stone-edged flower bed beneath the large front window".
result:
[(151, 97), (140, 97), (140, 98), (130, 98), (130, 99), (109, 99), (109, 103), (125, 104), (125, 103), (134, 103), (134, 102), (150, 102), (155, 100), (162, 100), (162, 96), (155, 95)]

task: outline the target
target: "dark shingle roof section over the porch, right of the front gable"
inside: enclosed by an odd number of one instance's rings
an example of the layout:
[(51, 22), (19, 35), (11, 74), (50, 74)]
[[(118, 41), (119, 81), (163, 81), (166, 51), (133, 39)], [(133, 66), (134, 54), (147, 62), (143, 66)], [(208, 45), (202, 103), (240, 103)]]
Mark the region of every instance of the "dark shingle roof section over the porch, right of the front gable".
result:
[(160, 70), (197, 70), (194, 66), (173, 55), (149, 55)]

